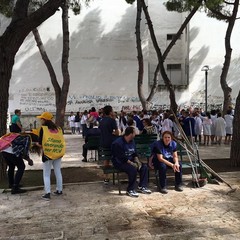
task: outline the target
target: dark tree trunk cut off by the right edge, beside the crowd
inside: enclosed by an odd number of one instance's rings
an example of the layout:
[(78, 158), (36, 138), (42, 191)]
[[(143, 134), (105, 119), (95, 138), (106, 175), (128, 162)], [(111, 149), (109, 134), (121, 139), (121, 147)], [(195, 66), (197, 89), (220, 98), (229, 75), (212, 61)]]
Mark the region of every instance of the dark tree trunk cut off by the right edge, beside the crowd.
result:
[(231, 166), (239, 167), (240, 166), (240, 92), (236, 100), (236, 107), (234, 111), (233, 119), (233, 135), (232, 135), (232, 144), (230, 151), (230, 161)]

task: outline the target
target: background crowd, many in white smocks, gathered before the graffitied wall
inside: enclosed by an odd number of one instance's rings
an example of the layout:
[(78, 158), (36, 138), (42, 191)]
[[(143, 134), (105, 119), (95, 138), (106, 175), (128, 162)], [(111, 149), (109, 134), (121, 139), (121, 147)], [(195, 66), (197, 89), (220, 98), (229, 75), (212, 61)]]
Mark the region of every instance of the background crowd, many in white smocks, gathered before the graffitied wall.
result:
[[(175, 138), (181, 138), (180, 128), (182, 128), (189, 140), (207, 146), (210, 144), (230, 144), (233, 113), (232, 108), (229, 108), (224, 116), (219, 109), (205, 113), (199, 108), (189, 108), (182, 109), (176, 116), (170, 110), (132, 111), (128, 113), (121, 111), (120, 113), (113, 112), (111, 118), (116, 121), (119, 135), (123, 135), (125, 129), (131, 126), (135, 129), (137, 135), (155, 133), (161, 137), (163, 132), (170, 131)], [(72, 134), (81, 131), (83, 138), (85, 138), (88, 129), (92, 128), (95, 121), (100, 124), (104, 111), (103, 109), (96, 111), (92, 107), (89, 111), (77, 112), (76, 116), (79, 116), (81, 125), (74, 123), (74, 118), (76, 118), (74, 116), (73, 112), (71, 112), (68, 117)]]

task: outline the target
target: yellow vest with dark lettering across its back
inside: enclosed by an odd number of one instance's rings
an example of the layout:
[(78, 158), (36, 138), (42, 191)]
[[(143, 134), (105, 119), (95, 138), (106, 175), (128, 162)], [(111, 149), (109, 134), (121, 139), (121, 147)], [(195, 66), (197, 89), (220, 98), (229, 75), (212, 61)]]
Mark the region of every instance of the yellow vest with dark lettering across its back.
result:
[(52, 160), (63, 157), (66, 150), (66, 144), (61, 128), (58, 132), (50, 132), (47, 126), (42, 126), (43, 139), (42, 148), (43, 153)]

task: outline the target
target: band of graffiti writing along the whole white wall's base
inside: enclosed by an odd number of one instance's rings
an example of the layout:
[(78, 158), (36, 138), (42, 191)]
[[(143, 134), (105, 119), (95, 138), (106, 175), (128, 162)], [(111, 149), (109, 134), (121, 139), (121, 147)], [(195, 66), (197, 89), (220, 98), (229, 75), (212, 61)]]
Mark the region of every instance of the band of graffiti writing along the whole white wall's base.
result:
[[(205, 107), (205, 92), (198, 91), (193, 94), (191, 102), (179, 106), (180, 108), (192, 107)], [(16, 96), (17, 103), (22, 112), (25, 113), (39, 113), (43, 111), (56, 111), (55, 107), (55, 93), (50, 87), (36, 87), (36, 88), (23, 88), (19, 90), (18, 96)], [(208, 95), (208, 109), (222, 108), (223, 97)], [(14, 103), (15, 105), (15, 103)], [(87, 95), (87, 94), (72, 94), (68, 95), (66, 111), (80, 111), (88, 110), (91, 107), (96, 109), (103, 108), (106, 105), (113, 106), (115, 111), (124, 110), (128, 111), (140, 111), (142, 105), (138, 97), (128, 96), (113, 96), (113, 95)], [(163, 104), (159, 101), (155, 101), (150, 104), (152, 110), (157, 109), (169, 109), (169, 104)]]

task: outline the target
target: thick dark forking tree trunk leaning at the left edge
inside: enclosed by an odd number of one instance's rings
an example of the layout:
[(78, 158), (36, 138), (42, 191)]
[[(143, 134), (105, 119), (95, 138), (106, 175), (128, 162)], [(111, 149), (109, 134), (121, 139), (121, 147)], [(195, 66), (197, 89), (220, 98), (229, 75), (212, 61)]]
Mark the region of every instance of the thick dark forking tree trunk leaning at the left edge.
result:
[[(6, 133), (9, 83), (15, 55), (26, 36), (52, 16), (61, 3), (62, 0), (48, 1), (40, 9), (28, 15), (29, 1), (17, 0), (16, 2), (12, 21), (0, 37), (0, 136)], [(5, 169), (1, 168), (0, 171), (5, 171)], [(0, 174), (2, 175), (4, 174)]]

